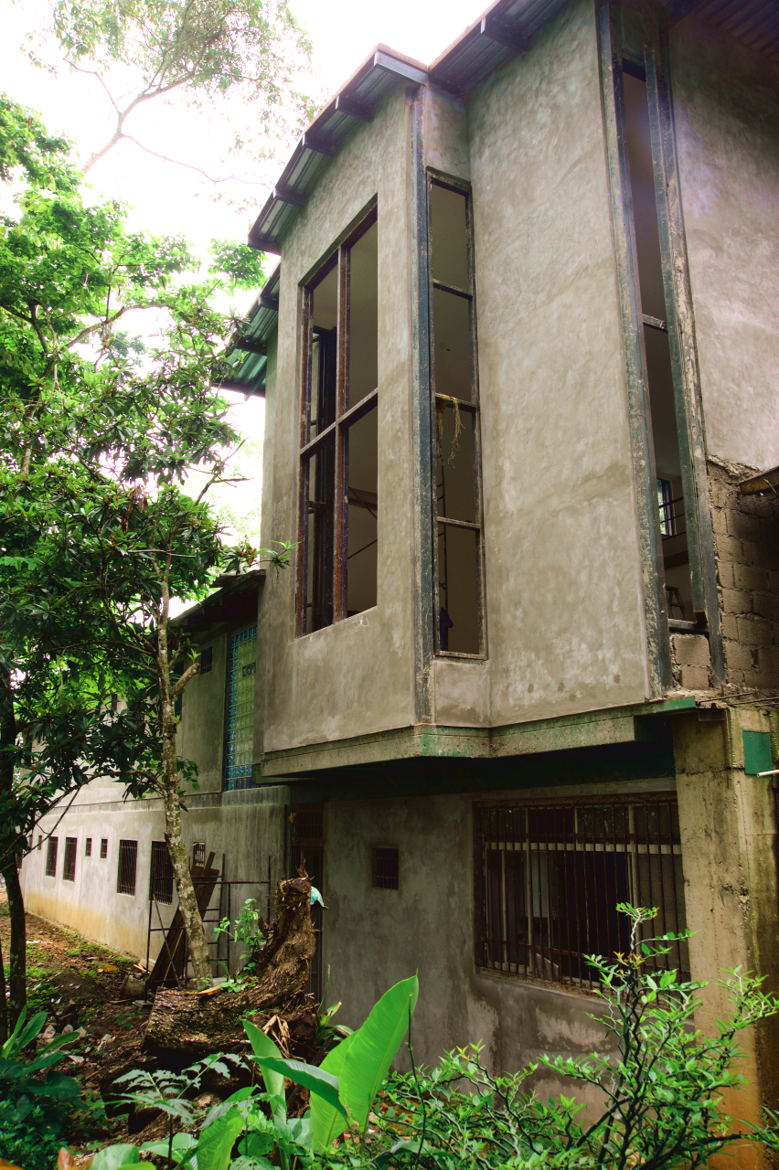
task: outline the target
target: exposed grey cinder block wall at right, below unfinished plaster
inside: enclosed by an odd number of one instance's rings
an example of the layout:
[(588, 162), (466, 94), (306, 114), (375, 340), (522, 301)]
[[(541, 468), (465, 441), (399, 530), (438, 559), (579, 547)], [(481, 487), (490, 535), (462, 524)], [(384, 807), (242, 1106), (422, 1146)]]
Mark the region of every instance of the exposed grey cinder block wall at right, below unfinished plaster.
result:
[(779, 498), (744, 496), (754, 469), (709, 460), (726, 681), (779, 688)]

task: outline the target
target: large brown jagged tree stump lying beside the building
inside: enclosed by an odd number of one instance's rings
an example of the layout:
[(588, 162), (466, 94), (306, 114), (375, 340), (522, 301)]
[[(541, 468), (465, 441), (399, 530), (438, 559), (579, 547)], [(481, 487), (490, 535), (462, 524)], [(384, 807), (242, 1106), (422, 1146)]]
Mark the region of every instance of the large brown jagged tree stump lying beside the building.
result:
[(292, 1042), (305, 1044), (316, 1028), (316, 1007), (305, 994), (309, 964), (316, 950), (311, 923), (311, 882), (303, 875), (276, 887), (276, 918), (263, 924), (267, 943), (257, 975), (239, 991), (200, 994), (160, 987), (149, 1018), (143, 1048), (186, 1052), (197, 1059), (209, 1052), (243, 1049), (243, 1019), (262, 1027), (278, 1016)]

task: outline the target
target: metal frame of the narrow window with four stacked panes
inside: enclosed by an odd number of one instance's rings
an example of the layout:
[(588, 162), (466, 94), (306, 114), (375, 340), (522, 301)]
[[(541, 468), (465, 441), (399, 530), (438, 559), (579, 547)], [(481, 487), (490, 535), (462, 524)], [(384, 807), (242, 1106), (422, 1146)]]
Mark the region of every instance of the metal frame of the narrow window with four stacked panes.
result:
[[(429, 296), (429, 370), (430, 370), (430, 415), (433, 419), (433, 427), (430, 434), (430, 486), (432, 486), (432, 509), (433, 509), (433, 590), (434, 590), (434, 606), (433, 606), (433, 638), (435, 646), (435, 654), (440, 658), (453, 658), (453, 659), (485, 659), (487, 658), (487, 605), (485, 605), (485, 583), (484, 583), (484, 512), (483, 512), (483, 501), (482, 501), (482, 442), (481, 442), (481, 408), (480, 408), (480, 397), (478, 397), (478, 339), (476, 330), (476, 264), (474, 255), (474, 214), (473, 214), (473, 193), (469, 183), (462, 179), (456, 179), (451, 176), (442, 174), (439, 171), (427, 170), (427, 239), (432, 241), (433, 239), (433, 208), (430, 191), (433, 187), (443, 187), (446, 191), (455, 191), (457, 194), (463, 195), (466, 199), (466, 223), (468, 233), (468, 288), (461, 289), (455, 288), (451, 284), (446, 284), (443, 281), (437, 281), (433, 276), (433, 248), (428, 243), (427, 249), (427, 264), (428, 264), (428, 296)], [(471, 378), (471, 400), (466, 401), (464, 399), (453, 398), (449, 394), (439, 393), (435, 383), (435, 316), (433, 309), (434, 296), (436, 291), (443, 291), (453, 294), (454, 296), (462, 297), (469, 304), (469, 323), (470, 323), (470, 378)], [(436, 488), (436, 475), (435, 475), (435, 447), (436, 447), (436, 408), (446, 406), (455, 406), (456, 410), (463, 411), (473, 415), (474, 419), (474, 493), (475, 493), (475, 515), (476, 522), (469, 523), (468, 521), (450, 519), (446, 516), (437, 515), (437, 488)], [(477, 605), (478, 605), (478, 654), (464, 654), (459, 651), (441, 649), (441, 628), (439, 621), (439, 542), (437, 542), (437, 525), (442, 524), (446, 529), (449, 528), (464, 528), (477, 535), (478, 551), (477, 551)]]

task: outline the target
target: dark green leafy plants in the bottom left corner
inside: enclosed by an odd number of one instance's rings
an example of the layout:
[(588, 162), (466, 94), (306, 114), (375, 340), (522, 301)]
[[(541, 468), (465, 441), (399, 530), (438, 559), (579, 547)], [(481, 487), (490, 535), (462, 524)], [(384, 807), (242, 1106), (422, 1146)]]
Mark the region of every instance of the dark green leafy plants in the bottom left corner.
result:
[(48, 1170), (74, 1113), (84, 1107), (78, 1082), (53, 1067), (74, 1035), (56, 1037), (30, 1059), (23, 1057), (44, 1025), (44, 1012), (27, 1023), (22, 1009), (0, 1048), (0, 1152), (26, 1170)]

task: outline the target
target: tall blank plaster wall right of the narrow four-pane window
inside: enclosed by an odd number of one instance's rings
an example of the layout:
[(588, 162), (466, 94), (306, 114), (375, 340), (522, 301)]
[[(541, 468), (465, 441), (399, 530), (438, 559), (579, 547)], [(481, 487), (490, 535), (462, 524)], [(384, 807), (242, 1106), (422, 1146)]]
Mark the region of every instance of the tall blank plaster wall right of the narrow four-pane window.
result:
[(470, 108), (491, 722), (642, 701), (625, 358), (591, 4)]

